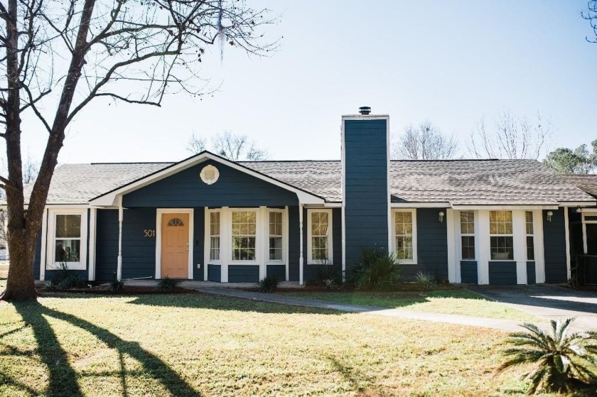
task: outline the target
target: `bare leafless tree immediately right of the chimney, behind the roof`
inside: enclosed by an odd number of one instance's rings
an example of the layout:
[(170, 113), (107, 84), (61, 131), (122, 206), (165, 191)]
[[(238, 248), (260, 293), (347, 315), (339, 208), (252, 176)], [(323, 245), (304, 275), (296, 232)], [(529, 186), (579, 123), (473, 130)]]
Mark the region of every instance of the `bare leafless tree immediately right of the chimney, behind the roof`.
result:
[(446, 160), (456, 157), (458, 141), (443, 134), (430, 121), (408, 126), (392, 145), (392, 158), (401, 160)]

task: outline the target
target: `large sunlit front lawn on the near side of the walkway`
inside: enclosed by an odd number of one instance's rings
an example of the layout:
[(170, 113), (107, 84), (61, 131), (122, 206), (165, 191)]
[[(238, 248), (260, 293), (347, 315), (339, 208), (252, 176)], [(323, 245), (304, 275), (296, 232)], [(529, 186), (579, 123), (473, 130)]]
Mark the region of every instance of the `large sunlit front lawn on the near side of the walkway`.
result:
[(505, 333), (196, 293), (0, 303), (0, 396), (511, 396)]

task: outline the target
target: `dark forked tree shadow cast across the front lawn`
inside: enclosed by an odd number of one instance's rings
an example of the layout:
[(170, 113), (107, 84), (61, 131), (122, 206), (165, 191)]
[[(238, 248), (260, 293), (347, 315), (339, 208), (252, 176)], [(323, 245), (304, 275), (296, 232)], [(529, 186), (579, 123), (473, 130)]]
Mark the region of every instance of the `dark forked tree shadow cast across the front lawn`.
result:
[(117, 374), (120, 376), (123, 396), (128, 394), (127, 371), (123, 360), (125, 354), (139, 361), (144, 373), (159, 381), (174, 396), (200, 396), (200, 393), (195, 391), (168, 364), (155, 354), (143, 349), (138, 342), (123, 340), (92, 322), (65, 312), (45, 308), (40, 303), (15, 303), (14, 307), (26, 324), (31, 325), (33, 329), (33, 334), (38, 342), (38, 354), (49, 371), (47, 389), (49, 396), (81, 396), (82, 392), (77, 383), (77, 373), (68, 363), (68, 354), (60, 346), (55, 332), (44, 316), (63, 320), (70, 325), (79, 327), (97, 337), (108, 347), (117, 350), (120, 365)]

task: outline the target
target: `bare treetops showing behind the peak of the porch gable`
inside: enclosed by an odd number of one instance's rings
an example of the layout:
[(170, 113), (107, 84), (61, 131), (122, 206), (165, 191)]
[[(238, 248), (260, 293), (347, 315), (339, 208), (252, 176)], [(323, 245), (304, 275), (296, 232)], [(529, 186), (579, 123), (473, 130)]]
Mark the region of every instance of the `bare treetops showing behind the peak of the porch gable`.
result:
[[(207, 148), (205, 138), (199, 136), (190, 137), (187, 150), (191, 153), (200, 153)], [(212, 151), (218, 156), (222, 156), (232, 161), (249, 160), (259, 161), (267, 160), (267, 151), (257, 148), (255, 143), (249, 142), (249, 138), (244, 134), (232, 134), (225, 131), (212, 137)]]

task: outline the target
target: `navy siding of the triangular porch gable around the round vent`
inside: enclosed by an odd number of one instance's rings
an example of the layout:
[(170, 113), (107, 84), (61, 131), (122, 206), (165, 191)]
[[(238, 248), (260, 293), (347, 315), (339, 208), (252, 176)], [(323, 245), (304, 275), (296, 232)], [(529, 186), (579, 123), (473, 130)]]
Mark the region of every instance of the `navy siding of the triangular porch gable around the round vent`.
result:
[[(199, 174), (214, 165), (220, 178), (206, 185)], [(247, 175), (214, 161), (205, 161), (179, 173), (141, 187), (123, 197), (124, 207), (269, 207), (298, 205), (298, 197), (282, 187)]]

